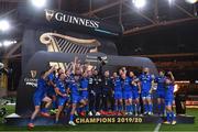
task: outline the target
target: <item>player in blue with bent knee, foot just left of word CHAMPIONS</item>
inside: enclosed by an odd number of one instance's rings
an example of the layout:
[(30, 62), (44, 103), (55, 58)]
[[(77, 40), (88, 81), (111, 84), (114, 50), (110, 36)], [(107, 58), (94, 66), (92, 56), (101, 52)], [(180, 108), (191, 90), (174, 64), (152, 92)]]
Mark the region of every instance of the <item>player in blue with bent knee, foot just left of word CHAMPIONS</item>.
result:
[(74, 122), (74, 114), (77, 108), (77, 105), (80, 103), (79, 109), (84, 108), (86, 106), (86, 101), (81, 99), (80, 94), (79, 94), (79, 75), (74, 75), (74, 78), (72, 78), (70, 84), (69, 84), (69, 89), (72, 94), (72, 112), (70, 112), (70, 119), (68, 124), (70, 125), (76, 125)]

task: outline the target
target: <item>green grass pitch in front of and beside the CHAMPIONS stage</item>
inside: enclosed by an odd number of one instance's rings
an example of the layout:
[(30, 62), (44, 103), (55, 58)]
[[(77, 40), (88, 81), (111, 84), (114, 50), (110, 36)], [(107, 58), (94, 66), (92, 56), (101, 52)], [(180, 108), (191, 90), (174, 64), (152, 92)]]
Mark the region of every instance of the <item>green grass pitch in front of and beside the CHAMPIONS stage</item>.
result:
[[(14, 112), (13, 106), (7, 106), (8, 114)], [(198, 109), (187, 109), (187, 114), (195, 116), (195, 124), (162, 124), (160, 131), (198, 131)], [(0, 119), (2, 121), (2, 119)], [(154, 131), (157, 124), (79, 124), (77, 127), (35, 127), (32, 131)], [(8, 127), (0, 123), (0, 131), (28, 131), (26, 127)]]

